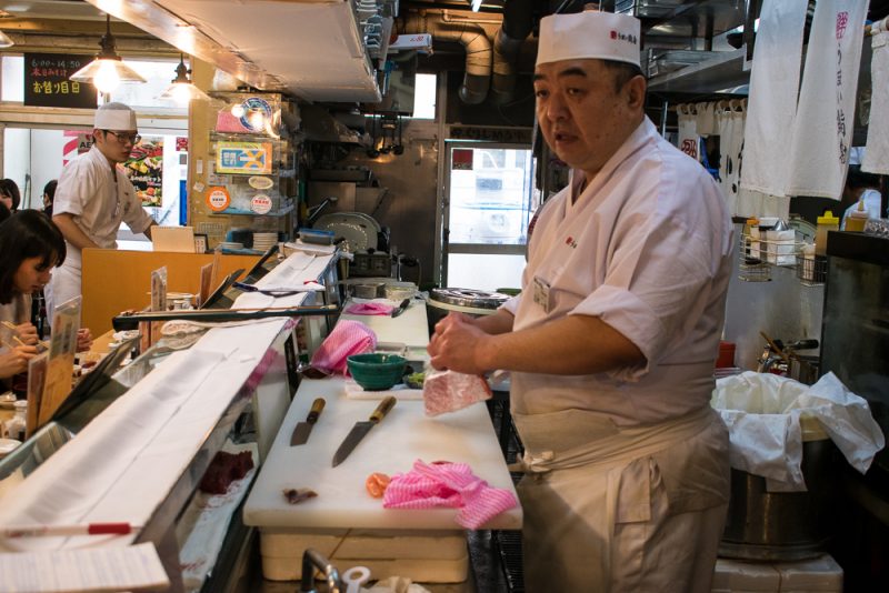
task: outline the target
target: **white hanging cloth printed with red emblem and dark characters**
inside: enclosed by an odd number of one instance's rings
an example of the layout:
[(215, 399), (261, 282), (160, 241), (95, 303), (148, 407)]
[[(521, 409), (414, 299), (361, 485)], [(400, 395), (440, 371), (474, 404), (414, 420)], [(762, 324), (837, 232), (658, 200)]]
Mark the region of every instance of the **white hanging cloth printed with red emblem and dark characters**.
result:
[(815, 6), (790, 144), (788, 195), (839, 200), (842, 194), (867, 10), (861, 0), (818, 0)]

